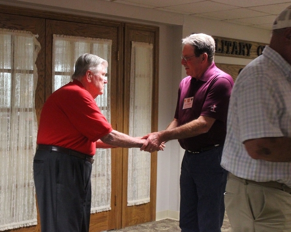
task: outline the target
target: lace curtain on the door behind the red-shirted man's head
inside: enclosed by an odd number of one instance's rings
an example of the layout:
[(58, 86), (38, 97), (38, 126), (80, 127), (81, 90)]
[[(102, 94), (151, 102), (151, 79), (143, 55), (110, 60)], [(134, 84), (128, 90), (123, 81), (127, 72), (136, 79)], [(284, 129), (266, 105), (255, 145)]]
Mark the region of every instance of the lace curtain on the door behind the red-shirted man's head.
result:
[[(95, 101), (103, 115), (110, 122), (110, 64), (111, 40), (53, 35), (52, 91), (71, 81), (76, 60), (84, 53), (95, 54), (108, 62), (107, 81), (104, 93)], [(110, 210), (111, 200), (111, 150), (96, 149), (92, 166), (91, 213)]]

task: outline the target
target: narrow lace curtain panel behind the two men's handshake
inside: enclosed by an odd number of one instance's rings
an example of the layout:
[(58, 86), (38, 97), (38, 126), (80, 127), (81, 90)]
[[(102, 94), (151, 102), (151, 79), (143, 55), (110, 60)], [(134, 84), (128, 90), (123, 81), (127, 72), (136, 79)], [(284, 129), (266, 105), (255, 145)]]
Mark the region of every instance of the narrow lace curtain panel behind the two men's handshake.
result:
[[(129, 135), (151, 132), (153, 45), (132, 42), (130, 74)], [(127, 205), (150, 201), (151, 154), (131, 148), (128, 151)]]

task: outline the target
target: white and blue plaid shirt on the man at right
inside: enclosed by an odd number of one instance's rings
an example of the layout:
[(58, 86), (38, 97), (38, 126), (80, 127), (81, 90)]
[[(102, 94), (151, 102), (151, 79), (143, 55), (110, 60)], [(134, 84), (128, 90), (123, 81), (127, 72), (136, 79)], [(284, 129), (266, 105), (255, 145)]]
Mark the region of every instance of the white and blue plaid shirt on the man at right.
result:
[(252, 159), (244, 148), (247, 139), (267, 137), (291, 138), (291, 65), (269, 46), (235, 82), (221, 165), (244, 179), (291, 187), (291, 162)]

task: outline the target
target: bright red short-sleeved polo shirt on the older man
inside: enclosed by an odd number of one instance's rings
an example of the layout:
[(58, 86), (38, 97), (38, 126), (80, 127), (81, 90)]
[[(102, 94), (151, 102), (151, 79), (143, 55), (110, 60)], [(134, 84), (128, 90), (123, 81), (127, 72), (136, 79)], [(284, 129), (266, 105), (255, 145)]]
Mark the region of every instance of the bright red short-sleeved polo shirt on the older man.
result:
[(91, 94), (74, 80), (52, 93), (45, 102), (36, 142), (94, 155), (95, 141), (112, 130)]

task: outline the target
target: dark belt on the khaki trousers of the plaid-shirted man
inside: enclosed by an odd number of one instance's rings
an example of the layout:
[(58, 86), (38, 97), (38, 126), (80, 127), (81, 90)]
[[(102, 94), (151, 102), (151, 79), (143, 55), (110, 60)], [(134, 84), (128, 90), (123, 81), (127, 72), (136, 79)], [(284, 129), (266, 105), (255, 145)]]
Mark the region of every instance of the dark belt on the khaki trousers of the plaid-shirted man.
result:
[(277, 181), (268, 181), (268, 182), (257, 182), (257, 181), (252, 181), (252, 180), (246, 180), (240, 177), (235, 176), (234, 174), (228, 172), (228, 176), (227, 179), (233, 179), (236, 181), (240, 181), (242, 183), (244, 183), (245, 185), (255, 185), (255, 186), (264, 186), (264, 187), (270, 187), (270, 188), (278, 188), (281, 189), (285, 192), (289, 192), (291, 193), (291, 187), (283, 184), (283, 183), (279, 183)]

